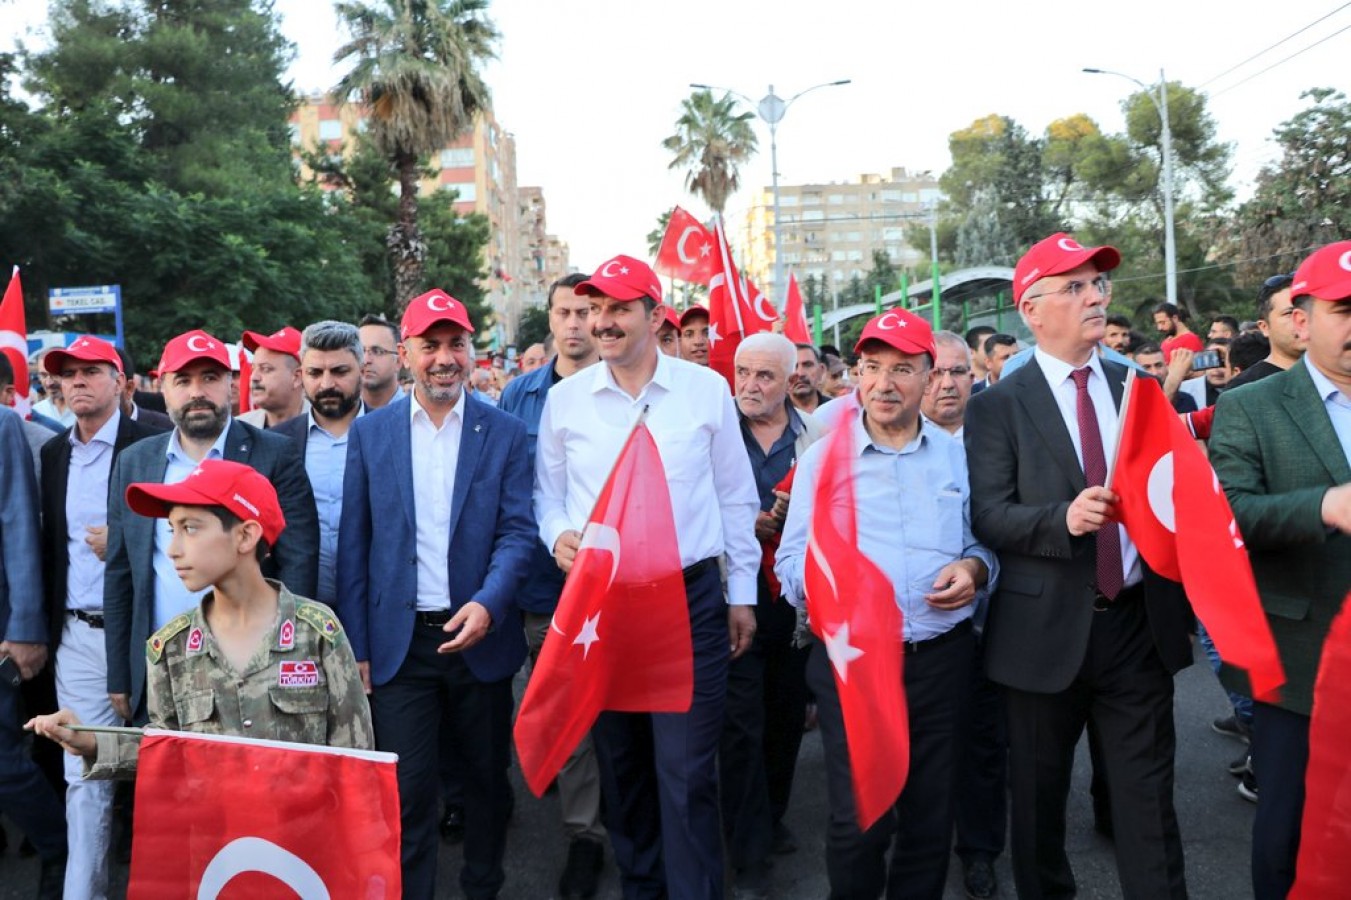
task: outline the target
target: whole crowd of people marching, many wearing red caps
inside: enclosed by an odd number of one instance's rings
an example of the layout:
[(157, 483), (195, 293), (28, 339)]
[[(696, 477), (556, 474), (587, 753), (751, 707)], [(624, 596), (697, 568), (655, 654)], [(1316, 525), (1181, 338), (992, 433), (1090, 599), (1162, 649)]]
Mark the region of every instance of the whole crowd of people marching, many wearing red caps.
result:
[[(992, 897), (1005, 843), (1017, 896), (1073, 896), (1085, 730), (1123, 895), (1185, 897), (1173, 676), (1200, 635), (1232, 700), (1213, 727), (1250, 743), (1231, 772), (1258, 804), (1254, 893), (1283, 897), (1319, 651), (1351, 586), (1351, 242), (1204, 339), (1170, 304), (1156, 342), (1109, 315), (1120, 261), (1066, 234), (1028, 249), (1013, 299), (1032, 346), (897, 308), (844, 351), (748, 335), (731, 391), (708, 311), (663, 304), (626, 255), (550, 288), (550, 338), (511, 372), (476, 365), (442, 291), (399, 323), (245, 332), (246, 384), (201, 330), (163, 347), (154, 382), (93, 336), (45, 351), (45, 399), (0, 412), (0, 812), (42, 858), (39, 896), (107, 896), (126, 853), (116, 778), (135, 743), (76, 723), (397, 753), (404, 896), (436, 896), (443, 841), (463, 843), (466, 896), (512, 896), (513, 678), (573, 639), (553, 612), (642, 415), (693, 697), (603, 712), (559, 770), (558, 896), (596, 895), (607, 845), (626, 897), (771, 896), (773, 857), (820, 846), (785, 824), (819, 727), (832, 897), (942, 897), (954, 850), (967, 896)], [(1250, 699), (1116, 522), (1128, 366), (1208, 442), (1285, 665), (1279, 704)], [(7, 405), (14, 388), (0, 355)], [(805, 614), (834, 428), (851, 431), (858, 547), (904, 622), (909, 776), (866, 830), (840, 700), (861, 651)]]

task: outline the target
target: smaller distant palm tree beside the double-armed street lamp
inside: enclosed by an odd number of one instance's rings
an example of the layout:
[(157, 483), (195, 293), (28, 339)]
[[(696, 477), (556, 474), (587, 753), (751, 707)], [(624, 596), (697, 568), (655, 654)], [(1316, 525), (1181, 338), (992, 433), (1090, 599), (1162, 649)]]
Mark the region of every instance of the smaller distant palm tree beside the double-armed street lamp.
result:
[(698, 195), (717, 215), (740, 181), (736, 170), (755, 153), (753, 112), (736, 112), (736, 100), (724, 93), (713, 99), (712, 91), (696, 91), (681, 101), (676, 134), (662, 141), (670, 150), (670, 169), (686, 169), (685, 188)]

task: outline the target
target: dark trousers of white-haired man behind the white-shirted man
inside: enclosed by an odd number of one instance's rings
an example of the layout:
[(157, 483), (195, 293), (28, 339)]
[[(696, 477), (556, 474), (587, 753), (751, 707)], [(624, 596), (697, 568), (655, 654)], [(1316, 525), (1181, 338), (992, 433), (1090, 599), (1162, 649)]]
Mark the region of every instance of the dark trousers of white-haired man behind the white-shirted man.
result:
[(763, 876), (774, 826), (788, 811), (807, 715), (807, 647), (793, 646), (797, 611), (761, 599), (755, 639), (727, 673), (719, 747), (723, 832), (736, 872)]

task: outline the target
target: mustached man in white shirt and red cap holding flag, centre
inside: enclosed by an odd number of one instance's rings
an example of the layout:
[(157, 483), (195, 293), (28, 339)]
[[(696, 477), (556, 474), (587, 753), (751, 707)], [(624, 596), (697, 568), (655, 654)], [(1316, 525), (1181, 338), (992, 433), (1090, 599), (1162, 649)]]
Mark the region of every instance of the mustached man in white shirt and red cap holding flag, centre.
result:
[(596, 722), (605, 826), (626, 897), (720, 897), (716, 758), (728, 662), (755, 634), (755, 480), (727, 382), (658, 351), (665, 309), (653, 270), (619, 255), (577, 293), (593, 300), (588, 320), (601, 365), (554, 385), (544, 404), (535, 461), (540, 538), (567, 572), (646, 409), (670, 484), (694, 651), (689, 712), (603, 712)]

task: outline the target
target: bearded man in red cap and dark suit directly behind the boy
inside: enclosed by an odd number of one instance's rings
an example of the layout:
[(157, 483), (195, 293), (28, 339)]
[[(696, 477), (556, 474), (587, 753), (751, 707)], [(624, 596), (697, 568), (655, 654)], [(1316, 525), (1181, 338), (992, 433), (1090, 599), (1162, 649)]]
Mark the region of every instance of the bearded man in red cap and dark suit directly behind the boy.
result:
[[(315, 495), (292, 441), (230, 419), (230, 355), (205, 331), (181, 334), (157, 366), (159, 389), (174, 430), (127, 447), (113, 464), (109, 497), (132, 482), (178, 484), (203, 459), (231, 459), (261, 472), (281, 499), (286, 531), (263, 561), (263, 574), (292, 593), (315, 595), (319, 523)], [(128, 515), (108, 504), (108, 551), (103, 616), (108, 650), (108, 695), (123, 719), (145, 722), (146, 641), (174, 616), (193, 609), (204, 592), (189, 592), (173, 561), (173, 538), (162, 519)]]

